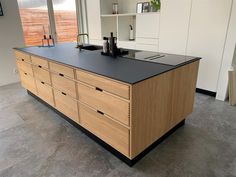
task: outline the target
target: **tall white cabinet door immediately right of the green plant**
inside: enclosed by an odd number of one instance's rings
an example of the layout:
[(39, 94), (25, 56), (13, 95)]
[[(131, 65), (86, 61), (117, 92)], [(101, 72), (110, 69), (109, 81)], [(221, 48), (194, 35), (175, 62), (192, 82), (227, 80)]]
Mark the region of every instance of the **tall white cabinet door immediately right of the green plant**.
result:
[(188, 38), (191, 0), (163, 0), (159, 51), (184, 55)]

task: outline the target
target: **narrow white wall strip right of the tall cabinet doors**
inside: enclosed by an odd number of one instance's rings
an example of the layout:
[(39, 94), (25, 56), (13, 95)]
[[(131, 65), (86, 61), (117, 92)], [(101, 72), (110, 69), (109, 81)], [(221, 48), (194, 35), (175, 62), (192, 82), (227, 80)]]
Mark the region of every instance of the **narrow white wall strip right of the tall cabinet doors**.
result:
[[(228, 96), (228, 70), (231, 68), (236, 55), (236, 0), (233, 1), (224, 55), (219, 75), (216, 99), (224, 101)], [(235, 59), (236, 60), (236, 59)]]

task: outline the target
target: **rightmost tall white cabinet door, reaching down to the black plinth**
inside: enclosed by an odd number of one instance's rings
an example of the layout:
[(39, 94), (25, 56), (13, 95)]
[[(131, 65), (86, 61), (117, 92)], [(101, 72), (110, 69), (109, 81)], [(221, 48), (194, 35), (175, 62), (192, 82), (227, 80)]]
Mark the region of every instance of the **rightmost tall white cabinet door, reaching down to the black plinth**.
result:
[(231, 0), (193, 0), (187, 55), (202, 57), (197, 87), (216, 92)]

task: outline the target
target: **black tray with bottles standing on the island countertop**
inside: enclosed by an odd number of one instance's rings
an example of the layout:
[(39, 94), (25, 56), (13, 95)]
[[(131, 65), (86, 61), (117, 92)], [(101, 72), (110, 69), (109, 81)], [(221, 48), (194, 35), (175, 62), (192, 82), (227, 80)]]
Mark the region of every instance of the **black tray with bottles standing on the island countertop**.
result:
[(124, 51), (117, 48), (117, 38), (113, 36), (111, 32), (111, 36), (103, 38), (103, 50), (101, 52), (102, 55), (116, 57), (119, 55), (128, 54), (128, 51)]

